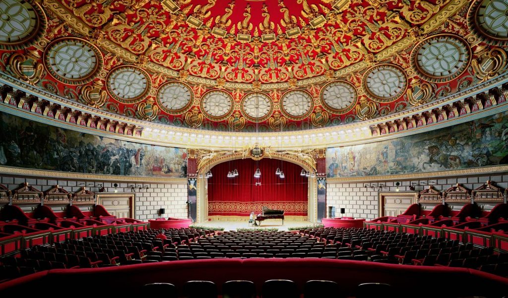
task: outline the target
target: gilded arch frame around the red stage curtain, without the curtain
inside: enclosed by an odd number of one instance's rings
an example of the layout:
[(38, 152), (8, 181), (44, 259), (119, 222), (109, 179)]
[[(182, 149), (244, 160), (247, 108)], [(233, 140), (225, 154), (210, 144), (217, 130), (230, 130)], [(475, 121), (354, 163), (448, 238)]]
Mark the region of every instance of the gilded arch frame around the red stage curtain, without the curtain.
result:
[[(295, 163), (300, 165), (305, 171), (314, 173), (314, 177), (309, 177), (308, 179), (308, 190), (307, 190), (307, 220), (310, 222), (316, 222), (317, 220), (317, 178), (315, 175), (315, 168), (313, 165), (308, 164), (307, 162), (298, 159), (294, 156), (288, 154), (280, 154), (280, 153), (272, 153), (270, 152), (271, 159), (274, 160), (284, 160), (291, 163)], [(244, 159), (244, 155), (242, 152), (235, 152), (231, 154), (226, 154), (223, 156), (219, 156), (217, 158), (213, 158), (212, 160), (206, 162), (205, 164), (200, 164), (198, 168), (198, 178), (197, 178), (197, 188), (198, 191), (196, 193), (196, 222), (207, 222), (208, 221), (208, 193), (207, 193), (207, 179), (204, 178), (205, 173), (208, 172), (215, 165), (231, 160), (236, 159)], [(247, 156), (245, 158), (251, 158)], [(263, 157), (270, 158), (270, 157)], [(202, 177), (202, 178), (199, 178)]]

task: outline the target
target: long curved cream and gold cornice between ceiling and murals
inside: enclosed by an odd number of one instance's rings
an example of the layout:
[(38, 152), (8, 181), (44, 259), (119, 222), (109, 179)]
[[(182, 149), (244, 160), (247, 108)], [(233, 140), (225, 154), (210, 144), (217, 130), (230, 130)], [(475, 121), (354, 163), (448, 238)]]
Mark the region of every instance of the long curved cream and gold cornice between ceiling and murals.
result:
[[(490, 104), (490, 107), (485, 105), (485, 108), (477, 111), (473, 111), (471, 109), (471, 111), (468, 111), (468, 113), (463, 115), (456, 115), (456, 117), (444, 119), (436, 123), (426, 123), (426, 125), (417, 126), (412, 129), (405, 128), (404, 130), (394, 131), (393, 133), (388, 133), (386, 135), (379, 134), (377, 136), (372, 136), (371, 131), (369, 130), (369, 127), (372, 126), (390, 126), (390, 122), (394, 123), (404, 119), (409, 119), (415, 115), (428, 113), (429, 111), (440, 109), (447, 105), (449, 107), (454, 106), (454, 104), (458, 105), (459, 102), (464, 101), (468, 97), (487, 92), (494, 87), (500, 87), (503, 83), (506, 82), (508, 82), (508, 73), (486, 81), (481, 85), (477, 85), (465, 89), (459, 93), (441, 98), (440, 100), (434, 101), (432, 103), (421, 105), (410, 110), (386, 117), (380, 117), (372, 120), (365, 120), (358, 123), (345, 124), (334, 127), (316, 128), (302, 131), (283, 131), (282, 133), (232, 133), (228, 131), (200, 130), (151, 123), (148, 121), (120, 116), (82, 105), (80, 103), (68, 100), (60, 96), (56, 96), (42, 89), (20, 82), (5, 74), (0, 75), (0, 83), (11, 86), (14, 91), (22, 91), (26, 92), (27, 95), (31, 94), (38, 97), (39, 101), (31, 102), (31, 104), (40, 104), (41, 101), (48, 101), (49, 104), (57, 104), (61, 107), (72, 109), (66, 113), (74, 113), (75, 111), (79, 114), (88, 114), (91, 117), (98, 117), (94, 118), (97, 120), (97, 123), (101, 121), (107, 121), (109, 123), (114, 123), (115, 127), (131, 127), (133, 129), (133, 134), (132, 136), (127, 135), (126, 133), (128, 130), (126, 129), (113, 129), (113, 131), (103, 131), (86, 125), (79, 125), (79, 123), (70, 121), (73, 119), (72, 117), (66, 117), (66, 119), (59, 119), (56, 117), (56, 115), (52, 117), (45, 117), (44, 115), (46, 114), (41, 115), (41, 113), (32, 112), (31, 110), (35, 110), (31, 109), (32, 107), (28, 107), (29, 109), (23, 109), (23, 106), (19, 105), (20, 96), (16, 97), (17, 95), (12, 97), (15, 99), (15, 101), (11, 104), (9, 104), (6, 98), (2, 98), (2, 103), (0, 103), (0, 110), (22, 115), (27, 118), (31, 116), (32, 119), (37, 119), (37, 121), (41, 121), (41, 119), (43, 119), (42, 122), (78, 130), (84, 133), (108, 136), (120, 140), (128, 140), (145, 144), (156, 144), (161, 146), (181, 148), (238, 149), (243, 148), (246, 145), (259, 143), (262, 146), (271, 146), (272, 148), (277, 148), (278, 150), (284, 150), (302, 148), (302, 146), (306, 148), (336, 147), (361, 144), (365, 142), (381, 141), (406, 135), (414, 135), (430, 129), (447, 127), (465, 121), (482, 118), (494, 113), (499, 113), (506, 110), (508, 103), (507, 101), (494, 105)], [(26, 97), (28, 96), (23, 98)], [(34, 98), (37, 99), (37, 97)], [(492, 96), (490, 95), (482, 95), (479, 98), (483, 98), (483, 101), (490, 101), (489, 103), (491, 103), (491, 97)], [(494, 100), (496, 100), (496, 98), (494, 98)], [(139, 132), (138, 135), (136, 134), (136, 131)]]

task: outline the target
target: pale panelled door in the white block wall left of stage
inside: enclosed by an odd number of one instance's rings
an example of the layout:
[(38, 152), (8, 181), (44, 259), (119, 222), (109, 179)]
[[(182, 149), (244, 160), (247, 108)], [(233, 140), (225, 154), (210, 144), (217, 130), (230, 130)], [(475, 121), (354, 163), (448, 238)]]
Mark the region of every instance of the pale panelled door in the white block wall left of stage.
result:
[(97, 194), (97, 204), (104, 206), (111, 215), (117, 218), (136, 218), (135, 196), (132, 192), (102, 192)]

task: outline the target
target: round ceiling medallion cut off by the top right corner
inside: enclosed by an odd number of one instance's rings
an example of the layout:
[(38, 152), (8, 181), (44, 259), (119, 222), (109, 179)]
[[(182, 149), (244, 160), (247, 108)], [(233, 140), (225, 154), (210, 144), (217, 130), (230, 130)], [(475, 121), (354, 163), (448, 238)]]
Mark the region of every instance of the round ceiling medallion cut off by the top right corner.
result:
[(508, 2), (506, 0), (477, 0), (467, 13), (467, 26), (488, 44), (508, 45)]

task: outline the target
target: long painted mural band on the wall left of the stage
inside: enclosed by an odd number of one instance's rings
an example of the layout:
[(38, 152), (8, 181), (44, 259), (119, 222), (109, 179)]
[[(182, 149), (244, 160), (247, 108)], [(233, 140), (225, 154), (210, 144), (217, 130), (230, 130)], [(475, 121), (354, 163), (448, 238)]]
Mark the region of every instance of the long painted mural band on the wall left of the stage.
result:
[(186, 177), (187, 151), (119, 141), (0, 112), (0, 164), (120, 176)]

